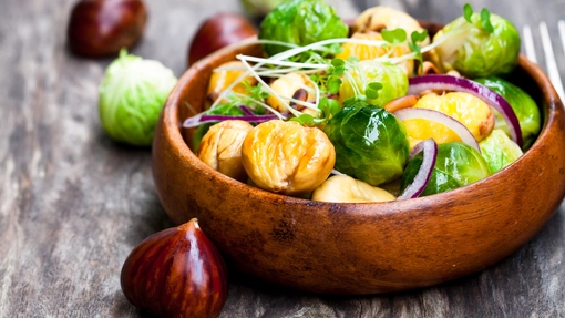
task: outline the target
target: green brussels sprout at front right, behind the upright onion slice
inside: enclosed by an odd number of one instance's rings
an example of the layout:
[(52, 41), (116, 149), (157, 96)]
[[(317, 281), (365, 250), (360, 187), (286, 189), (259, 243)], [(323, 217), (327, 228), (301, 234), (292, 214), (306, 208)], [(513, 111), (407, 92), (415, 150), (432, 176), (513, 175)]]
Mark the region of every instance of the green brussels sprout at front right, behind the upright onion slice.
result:
[[(400, 179), (402, 191), (414, 181), (423, 154), (415, 155), (407, 165)], [(438, 158), (430, 182), (420, 196), (454, 189), (483, 179), (490, 175), (489, 165), (473, 147), (452, 142), (438, 145)]]

